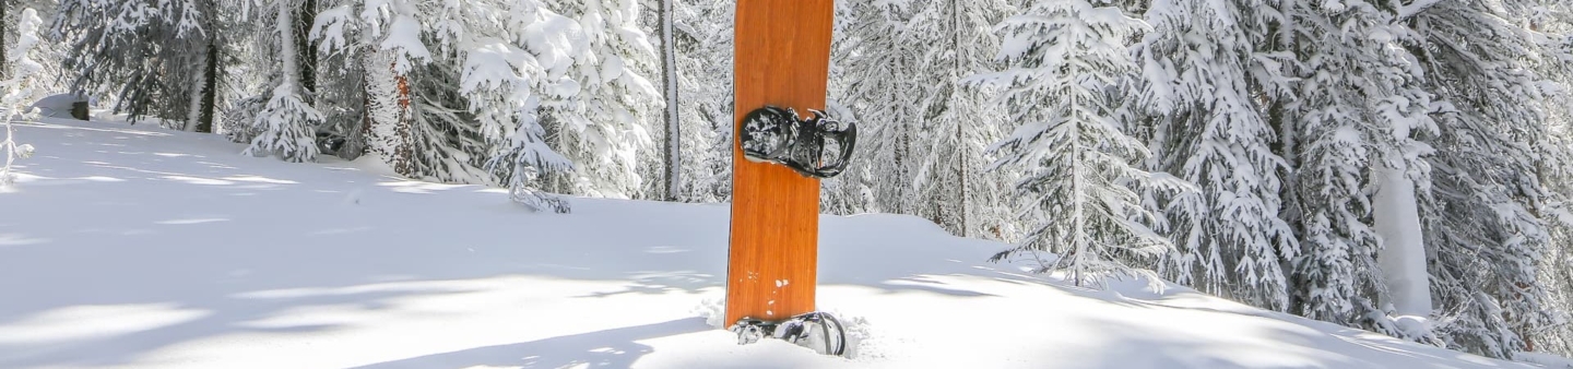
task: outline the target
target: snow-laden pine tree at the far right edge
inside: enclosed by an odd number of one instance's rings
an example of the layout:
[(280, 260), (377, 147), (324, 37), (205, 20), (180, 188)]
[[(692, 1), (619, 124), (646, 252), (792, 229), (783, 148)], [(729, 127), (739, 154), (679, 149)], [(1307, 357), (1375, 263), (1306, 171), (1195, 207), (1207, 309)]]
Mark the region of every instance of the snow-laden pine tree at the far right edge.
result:
[(1452, 349), (1496, 358), (1531, 350), (1534, 336), (1559, 341), (1545, 333), (1567, 308), (1553, 303), (1556, 279), (1542, 276), (1567, 269), (1545, 261), (1557, 259), (1549, 228), (1570, 218), (1559, 220), (1565, 196), (1548, 181), (1573, 162), (1556, 129), (1554, 111), (1565, 108), (1556, 105), (1556, 69), (1537, 66), (1573, 60), (1494, 6), (1439, 2), (1402, 16), (1436, 94), (1433, 192), (1420, 196), (1436, 333)]

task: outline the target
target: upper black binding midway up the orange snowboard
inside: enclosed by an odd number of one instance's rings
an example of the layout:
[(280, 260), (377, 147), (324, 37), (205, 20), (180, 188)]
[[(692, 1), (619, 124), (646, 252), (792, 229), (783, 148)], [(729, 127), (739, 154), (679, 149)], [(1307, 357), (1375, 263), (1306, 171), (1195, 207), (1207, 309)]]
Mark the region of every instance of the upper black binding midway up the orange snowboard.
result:
[[(750, 162), (785, 165), (809, 177), (834, 177), (846, 170), (857, 144), (857, 124), (824, 111), (802, 119), (796, 110), (766, 105), (742, 118), (738, 138)], [(829, 157), (827, 157), (829, 155)]]

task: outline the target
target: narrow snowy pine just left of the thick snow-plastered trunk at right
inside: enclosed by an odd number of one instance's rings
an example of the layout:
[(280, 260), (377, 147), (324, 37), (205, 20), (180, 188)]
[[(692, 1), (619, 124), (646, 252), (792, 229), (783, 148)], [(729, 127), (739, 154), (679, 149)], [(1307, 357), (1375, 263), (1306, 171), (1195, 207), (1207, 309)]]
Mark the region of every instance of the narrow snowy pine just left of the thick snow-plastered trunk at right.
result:
[[(1293, 11), (1309, 13), (1309, 19), (1324, 16), (1320, 8)], [(1340, 24), (1339, 20), (1328, 19), (1326, 24)], [(1296, 35), (1304, 38), (1298, 39), (1298, 49), (1343, 47), (1345, 38), (1337, 30), (1307, 31), (1321, 35)], [(1302, 212), (1291, 218), (1301, 231), (1301, 253), (1293, 261), (1290, 308), (1310, 319), (1354, 325), (1357, 319), (1376, 311), (1372, 294), (1365, 292), (1380, 286), (1372, 275), (1359, 275), (1365, 278), (1356, 279), (1356, 273), (1373, 272), (1376, 267), (1373, 258), (1378, 239), (1364, 220), (1370, 203), (1359, 196), (1367, 185), (1361, 170), (1370, 165), (1370, 149), (1364, 141), (1375, 135), (1375, 129), (1357, 111), (1350, 111), (1354, 107), (1345, 104), (1353, 99), (1353, 88), (1342, 85), (1348, 77), (1332, 72), (1351, 71), (1354, 66), (1350, 66), (1350, 57), (1321, 55), (1329, 52), (1315, 49), (1296, 52), (1301, 60), (1320, 63), (1307, 63), (1307, 74), (1313, 79), (1302, 82), (1299, 91), (1309, 96), (1295, 102), (1306, 110), (1295, 116), (1304, 121), (1290, 122), (1299, 151), (1284, 154), (1298, 168), (1291, 188)], [(1329, 91), (1332, 88), (1340, 90)]]

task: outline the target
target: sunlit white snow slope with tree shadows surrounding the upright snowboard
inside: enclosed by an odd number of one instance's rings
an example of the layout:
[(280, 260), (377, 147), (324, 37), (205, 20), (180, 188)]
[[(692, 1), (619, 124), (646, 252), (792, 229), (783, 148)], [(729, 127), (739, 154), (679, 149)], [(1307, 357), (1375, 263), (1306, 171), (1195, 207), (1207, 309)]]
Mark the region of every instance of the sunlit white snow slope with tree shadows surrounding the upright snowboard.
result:
[[(576, 199), (238, 155), (118, 122), (17, 129), (0, 367), (1542, 367), (1142, 283), (1066, 286), (911, 217), (824, 217), (849, 358), (738, 345), (727, 206)], [(1542, 358), (1554, 361), (1554, 358)]]

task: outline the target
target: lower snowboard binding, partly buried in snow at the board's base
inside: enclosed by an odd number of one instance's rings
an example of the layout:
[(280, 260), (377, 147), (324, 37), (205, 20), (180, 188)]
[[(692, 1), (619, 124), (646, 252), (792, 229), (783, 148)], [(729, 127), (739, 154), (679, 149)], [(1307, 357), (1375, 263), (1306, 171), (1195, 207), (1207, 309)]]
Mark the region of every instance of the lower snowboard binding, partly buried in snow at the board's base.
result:
[(807, 312), (783, 322), (744, 317), (738, 319), (738, 323), (733, 323), (730, 330), (738, 333), (738, 344), (752, 344), (761, 338), (775, 338), (813, 349), (823, 355), (842, 356), (846, 353), (846, 327), (826, 312)]

